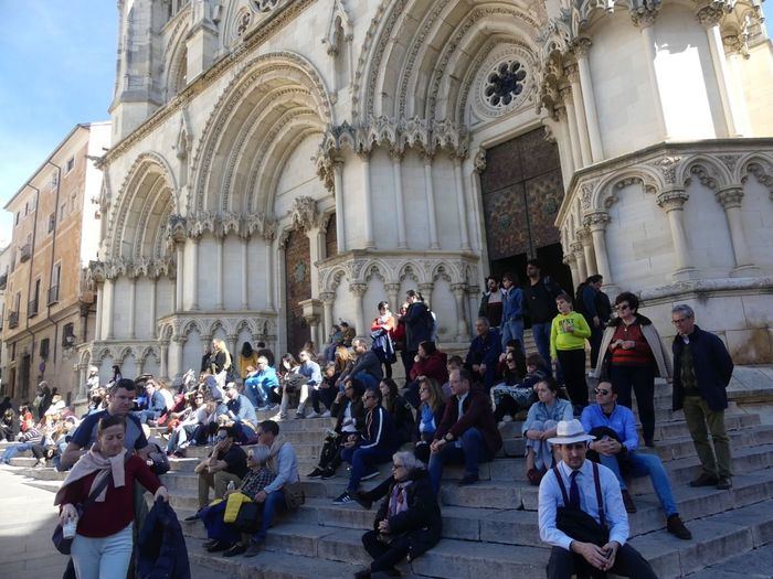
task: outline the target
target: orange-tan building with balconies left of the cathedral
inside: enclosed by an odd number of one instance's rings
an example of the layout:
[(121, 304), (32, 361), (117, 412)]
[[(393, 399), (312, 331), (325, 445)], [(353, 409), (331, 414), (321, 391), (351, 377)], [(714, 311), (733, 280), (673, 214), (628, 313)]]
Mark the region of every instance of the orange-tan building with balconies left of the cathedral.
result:
[(34, 397), (45, 379), (67, 399), (82, 386), (76, 347), (94, 337), (88, 265), (97, 259), (102, 171), (110, 124), (77, 125), (6, 204), (13, 214), (2, 276), (2, 394)]

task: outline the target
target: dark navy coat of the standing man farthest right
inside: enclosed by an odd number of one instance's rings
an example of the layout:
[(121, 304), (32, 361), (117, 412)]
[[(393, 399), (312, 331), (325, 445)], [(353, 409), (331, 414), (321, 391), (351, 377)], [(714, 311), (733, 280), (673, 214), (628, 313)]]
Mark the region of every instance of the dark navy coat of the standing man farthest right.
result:
[[(733, 374), (733, 361), (722, 340), (711, 332), (696, 325), (689, 337), (700, 397), (706, 400), (711, 410), (716, 412), (724, 410), (728, 407), (727, 387)], [(685, 351), (685, 342), (679, 334), (674, 336), (671, 350), (674, 352), (673, 403), (674, 409), (679, 410), (685, 398), (681, 385), (681, 354)]]

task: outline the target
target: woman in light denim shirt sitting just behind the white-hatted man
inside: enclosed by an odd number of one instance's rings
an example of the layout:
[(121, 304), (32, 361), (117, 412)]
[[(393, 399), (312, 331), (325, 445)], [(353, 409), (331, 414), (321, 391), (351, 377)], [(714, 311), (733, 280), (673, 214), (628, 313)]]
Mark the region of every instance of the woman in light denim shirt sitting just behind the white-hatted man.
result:
[(534, 388), (539, 400), (531, 405), (521, 432), (526, 438), (526, 475), (537, 486), (553, 463), (553, 449), (548, 439), (555, 435), (561, 420), (571, 420), (572, 404), (559, 396), (554, 378), (546, 377)]

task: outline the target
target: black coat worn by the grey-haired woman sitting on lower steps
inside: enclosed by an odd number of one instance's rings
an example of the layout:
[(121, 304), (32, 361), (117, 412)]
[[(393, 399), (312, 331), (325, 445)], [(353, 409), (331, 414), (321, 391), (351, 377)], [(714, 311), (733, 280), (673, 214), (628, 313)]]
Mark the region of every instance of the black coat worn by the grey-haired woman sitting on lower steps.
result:
[[(424, 469), (416, 469), (411, 473), (411, 479), (413, 484), (406, 490), (407, 511), (389, 517), (389, 532), (393, 536), (407, 537), (409, 556), (411, 559), (415, 559), (441, 540), (443, 518), (441, 517), (441, 507), (437, 505), (437, 496), (432, 490), (430, 474)], [(394, 484), (394, 479), (390, 478), (371, 491), (373, 498), (377, 498), (374, 496), (377, 490), (381, 496), (384, 496), (383, 492), (385, 491), (385, 497), (373, 522), (375, 530), (379, 529), (379, 523), (386, 518), (389, 497)]]

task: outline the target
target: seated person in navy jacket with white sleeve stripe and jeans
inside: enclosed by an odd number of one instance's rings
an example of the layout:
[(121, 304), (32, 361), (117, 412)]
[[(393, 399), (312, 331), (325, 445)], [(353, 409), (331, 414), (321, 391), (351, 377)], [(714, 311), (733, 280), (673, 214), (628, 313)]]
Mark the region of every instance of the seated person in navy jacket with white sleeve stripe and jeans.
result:
[(377, 464), (389, 461), (400, 446), (390, 414), (381, 406), (381, 390), (370, 388), (362, 396), (366, 409), (364, 430), (349, 435), (343, 442), (341, 459), (351, 464), (349, 484), (335, 501), (345, 504), (353, 500), (361, 481), (379, 475)]

